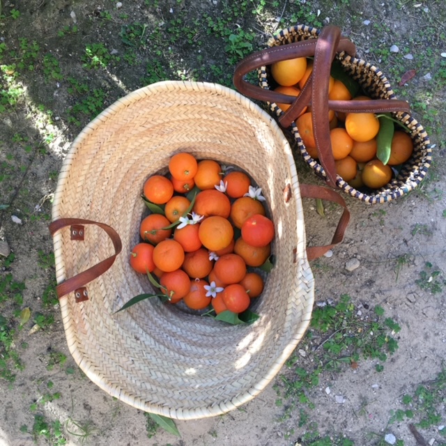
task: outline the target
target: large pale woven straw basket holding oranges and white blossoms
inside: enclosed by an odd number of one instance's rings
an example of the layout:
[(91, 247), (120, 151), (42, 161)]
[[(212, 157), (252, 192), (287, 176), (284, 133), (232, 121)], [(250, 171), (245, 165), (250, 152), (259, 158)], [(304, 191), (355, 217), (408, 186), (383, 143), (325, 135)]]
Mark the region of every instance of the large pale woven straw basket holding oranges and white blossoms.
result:
[[(144, 181), (166, 173), (180, 151), (243, 167), (262, 187), (277, 234), (275, 268), (251, 325), (187, 314), (158, 298), (116, 313), (154, 292), (129, 254), (146, 209)], [(75, 139), (61, 169), (52, 220), (70, 217), (112, 226), (123, 245), (112, 267), (86, 284), (89, 300), (75, 302), (73, 292), (60, 300), (70, 353), (95, 384), (135, 408), (179, 420), (226, 413), (270, 383), (307, 329), (314, 278), (293, 154), (274, 119), (236, 91), (160, 82), (107, 108)], [(57, 282), (113, 250), (99, 226), (87, 226), (83, 241), (69, 228), (56, 231)]]

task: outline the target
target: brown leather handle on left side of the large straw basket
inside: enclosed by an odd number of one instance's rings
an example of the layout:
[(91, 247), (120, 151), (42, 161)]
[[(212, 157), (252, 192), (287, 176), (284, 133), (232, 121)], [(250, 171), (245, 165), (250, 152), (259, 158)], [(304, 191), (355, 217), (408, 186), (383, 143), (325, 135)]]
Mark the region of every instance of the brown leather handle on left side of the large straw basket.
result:
[[(82, 226), (84, 224), (95, 224), (96, 226), (99, 226), (101, 229), (103, 229), (107, 233), (109, 238), (112, 239), (114, 254), (107, 257), (107, 259), (100, 261), (88, 270), (79, 272), (79, 274), (75, 275), (74, 277), (70, 277), (70, 279), (66, 279), (61, 284), (57, 285), (56, 293), (59, 299), (62, 298), (64, 295), (71, 293), (72, 291), (82, 289), (82, 287), (84, 287), (86, 284), (104, 274), (104, 272), (106, 272), (113, 265), (116, 256), (118, 256), (118, 254), (122, 250), (123, 245), (121, 243), (121, 238), (118, 236), (118, 233), (112, 228), (112, 226), (104, 223), (93, 222), (93, 220), (84, 220), (82, 218), (60, 218), (59, 220), (54, 220), (54, 222), (49, 224), (49, 233), (54, 236), (54, 234), (59, 231), (59, 229), (63, 229), (67, 226), (73, 225)], [(75, 237), (73, 237), (73, 235), (72, 239), (75, 240)], [(78, 238), (78, 240), (82, 239)]]

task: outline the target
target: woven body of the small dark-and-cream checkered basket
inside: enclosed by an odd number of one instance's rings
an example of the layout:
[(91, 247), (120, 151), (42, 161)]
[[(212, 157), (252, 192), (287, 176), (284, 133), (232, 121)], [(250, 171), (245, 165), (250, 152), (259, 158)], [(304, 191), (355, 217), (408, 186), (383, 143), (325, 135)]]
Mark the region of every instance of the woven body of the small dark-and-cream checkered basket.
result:
[[(268, 47), (277, 47), (279, 45), (286, 45), (289, 43), (300, 42), (302, 40), (309, 40), (318, 38), (320, 30), (305, 25), (295, 25), (287, 29), (282, 29), (275, 36), (268, 40)], [(372, 99), (396, 99), (394, 91), (390, 86), (389, 81), (383, 75), (383, 72), (371, 65), (370, 63), (357, 59), (356, 57), (341, 52), (337, 54), (337, 60), (341, 63), (344, 71), (347, 72), (353, 79), (355, 79), (364, 93)], [(259, 84), (263, 89), (270, 89), (272, 87), (272, 77), (268, 72), (268, 68), (263, 66), (259, 68)], [(269, 104), (272, 114), (280, 116), (283, 114), (282, 109), (275, 103)], [(406, 112), (392, 113), (394, 118), (405, 124), (410, 129), (410, 137), (413, 139), (414, 151), (410, 160), (408, 160), (399, 170), (398, 174), (392, 178), (390, 183), (380, 188), (379, 190), (356, 190), (351, 185), (348, 185), (340, 176), (337, 176), (337, 187), (351, 195), (364, 201), (364, 203), (385, 203), (391, 201), (403, 194), (410, 192), (419, 185), (431, 165), (432, 149), (429, 137), (422, 125), (410, 114)], [(314, 169), (315, 173), (322, 178), (325, 178), (325, 171), (318, 160), (315, 160), (305, 148), (302, 139), (300, 138), (299, 129), (293, 122), (290, 128), (293, 137), (297, 143), (298, 150), (304, 157), (305, 162)]]

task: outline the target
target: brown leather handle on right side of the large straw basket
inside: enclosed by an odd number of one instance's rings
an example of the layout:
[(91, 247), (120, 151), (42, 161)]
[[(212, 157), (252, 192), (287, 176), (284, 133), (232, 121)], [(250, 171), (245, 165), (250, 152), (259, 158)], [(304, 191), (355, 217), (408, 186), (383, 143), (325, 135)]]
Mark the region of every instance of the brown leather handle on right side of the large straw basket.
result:
[(307, 259), (314, 260), (323, 256), (325, 252), (328, 252), (328, 250), (332, 249), (332, 247), (335, 245), (341, 243), (341, 241), (344, 239), (344, 233), (347, 229), (348, 222), (350, 221), (350, 212), (348, 211), (346, 202), (341, 195), (332, 189), (328, 189), (328, 187), (300, 184), (300, 195), (302, 198), (318, 198), (321, 200), (333, 201), (344, 208), (344, 212), (339, 219), (330, 245), (307, 247)]

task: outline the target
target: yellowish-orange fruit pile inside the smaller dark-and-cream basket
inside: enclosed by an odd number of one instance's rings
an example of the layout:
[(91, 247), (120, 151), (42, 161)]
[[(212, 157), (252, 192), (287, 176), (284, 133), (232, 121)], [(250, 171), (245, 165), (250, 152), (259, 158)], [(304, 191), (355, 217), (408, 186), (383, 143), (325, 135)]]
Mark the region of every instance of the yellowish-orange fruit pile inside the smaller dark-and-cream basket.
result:
[[(278, 86), (275, 91), (298, 96), (312, 72), (312, 59), (300, 57), (273, 63), (271, 75)], [(330, 76), (330, 100), (364, 100), (367, 96), (352, 98), (347, 86), (339, 79)], [(283, 111), (288, 104), (277, 104)], [(369, 187), (379, 189), (392, 179), (392, 167), (405, 163), (413, 153), (413, 141), (403, 130), (395, 130), (390, 149), (390, 159), (383, 164), (376, 157), (377, 135), (380, 123), (374, 113), (340, 113), (329, 111), (330, 139), (337, 174), (348, 184), (358, 189)], [(314, 141), (312, 113), (307, 107), (295, 121), (307, 152), (318, 158)]]

